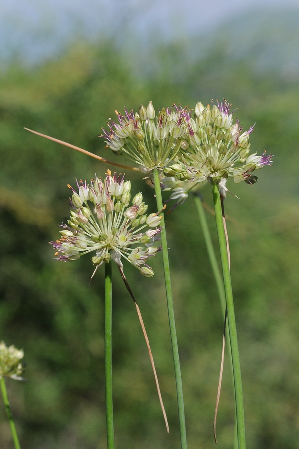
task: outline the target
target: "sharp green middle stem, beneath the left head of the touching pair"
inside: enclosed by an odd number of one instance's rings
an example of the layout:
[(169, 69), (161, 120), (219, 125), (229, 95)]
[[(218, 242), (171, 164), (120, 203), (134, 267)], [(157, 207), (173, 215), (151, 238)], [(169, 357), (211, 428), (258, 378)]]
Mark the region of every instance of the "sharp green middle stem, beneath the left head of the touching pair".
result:
[[(154, 171), (153, 171), (153, 179), (154, 179), (157, 208), (158, 208), (158, 211), (162, 211), (163, 200), (162, 200), (159, 172), (157, 169), (154, 169)], [(167, 308), (168, 308), (168, 317), (169, 317), (169, 326), (170, 326), (170, 335), (171, 335), (171, 344), (172, 344), (172, 353), (173, 353), (173, 362), (174, 362), (174, 373), (175, 373), (175, 381), (176, 381), (181, 448), (187, 449), (183, 385), (182, 385), (182, 376), (181, 376), (181, 369), (180, 369), (180, 363), (179, 363), (178, 345), (177, 345), (177, 337), (176, 337), (176, 329), (175, 329), (175, 318), (174, 318), (174, 308), (173, 308), (173, 300), (172, 300), (171, 278), (170, 278), (168, 246), (167, 246), (164, 214), (163, 214), (163, 218), (161, 221), (161, 245), (162, 245), (162, 252), (163, 252), (163, 266), (164, 266), (164, 276), (165, 276)]]

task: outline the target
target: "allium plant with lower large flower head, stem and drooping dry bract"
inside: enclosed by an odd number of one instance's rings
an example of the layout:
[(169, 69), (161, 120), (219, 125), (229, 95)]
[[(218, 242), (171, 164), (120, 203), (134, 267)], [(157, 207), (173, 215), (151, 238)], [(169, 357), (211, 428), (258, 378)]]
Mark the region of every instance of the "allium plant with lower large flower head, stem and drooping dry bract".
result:
[(73, 189), (70, 198), (71, 217), (68, 224), (61, 225), (61, 238), (52, 241), (56, 250), (56, 259), (62, 262), (75, 261), (84, 254), (94, 254), (91, 260), (95, 266), (93, 275), (105, 265), (105, 392), (108, 449), (114, 449), (114, 425), (112, 403), (112, 347), (111, 347), (111, 311), (112, 311), (112, 270), (114, 261), (121, 273), (125, 285), (135, 303), (137, 314), (147, 343), (149, 357), (154, 372), (158, 396), (164, 415), (167, 431), (167, 417), (160, 393), (155, 365), (149, 346), (149, 339), (142, 316), (132, 290), (123, 271), (122, 258), (139, 269), (145, 277), (154, 272), (147, 259), (160, 250), (154, 246), (161, 232), (162, 217), (158, 213), (147, 215), (148, 206), (141, 192), (136, 194), (130, 206), (131, 183), (124, 176), (107, 171), (104, 180), (96, 177), (88, 185), (77, 181), (78, 191)]

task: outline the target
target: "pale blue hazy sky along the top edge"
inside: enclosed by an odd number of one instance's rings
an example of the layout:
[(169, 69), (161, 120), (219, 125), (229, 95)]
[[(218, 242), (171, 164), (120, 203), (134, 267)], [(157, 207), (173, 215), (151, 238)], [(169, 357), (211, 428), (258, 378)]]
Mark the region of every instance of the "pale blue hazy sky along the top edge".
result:
[(43, 58), (74, 35), (188, 38), (258, 7), (299, 10), (299, 0), (0, 0), (0, 58)]

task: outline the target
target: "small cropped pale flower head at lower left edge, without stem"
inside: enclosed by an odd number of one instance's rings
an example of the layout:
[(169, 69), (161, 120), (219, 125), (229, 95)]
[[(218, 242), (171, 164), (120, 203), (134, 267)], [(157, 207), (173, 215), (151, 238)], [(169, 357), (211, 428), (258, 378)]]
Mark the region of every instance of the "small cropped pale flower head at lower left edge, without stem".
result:
[(24, 357), (22, 349), (16, 349), (14, 345), (7, 347), (3, 341), (0, 343), (0, 379), (4, 376), (16, 380), (23, 380), (20, 375), (24, 367), (20, 360)]

